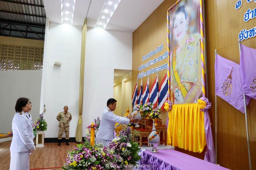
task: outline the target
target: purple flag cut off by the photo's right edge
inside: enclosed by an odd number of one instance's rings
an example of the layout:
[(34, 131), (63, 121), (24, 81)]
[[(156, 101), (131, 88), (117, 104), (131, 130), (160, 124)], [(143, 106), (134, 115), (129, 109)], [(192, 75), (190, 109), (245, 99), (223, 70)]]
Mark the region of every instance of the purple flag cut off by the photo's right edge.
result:
[(244, 94), (256, 99), (256, 49), (241, 45), (240, 73)]

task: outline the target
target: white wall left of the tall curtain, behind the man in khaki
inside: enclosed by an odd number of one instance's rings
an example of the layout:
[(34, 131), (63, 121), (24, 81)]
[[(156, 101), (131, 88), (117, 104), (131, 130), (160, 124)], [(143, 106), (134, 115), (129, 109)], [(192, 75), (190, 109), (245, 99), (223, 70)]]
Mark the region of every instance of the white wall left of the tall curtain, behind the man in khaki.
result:
[[(65, 105), (69, 107), (68, 112), (72, 115), (69, 137), (75, 137), (78, 121), (82, 27), (49, 22), (48, 34), (45, 37), (47, 37), (44, 53), (46, 64), (43, 67), (45, 87), (42, 92), (44, 92), (46, 108), (44, 118), (48, 123), (48, 129), (44, 137), (58, 137), (59, 122), (56, 116), (63, 111)], [(54, 62), (61, 62), (61, 66), (54, 66)]]

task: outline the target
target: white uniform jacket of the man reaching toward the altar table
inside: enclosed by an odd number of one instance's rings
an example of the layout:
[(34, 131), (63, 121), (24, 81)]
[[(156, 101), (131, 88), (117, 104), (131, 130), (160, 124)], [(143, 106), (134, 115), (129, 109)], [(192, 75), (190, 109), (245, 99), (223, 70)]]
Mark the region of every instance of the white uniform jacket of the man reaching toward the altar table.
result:
[(115, 115), (113, 112), (109, 110), (108, 107), (106, 107), (103, 110), (103, 113), (100, 119), (100, 127), (96, 134), (96, 140), (97, 139), (113, 140), (116, 122), (128, 125), (130, 123), (130, 120), (125, 117)]

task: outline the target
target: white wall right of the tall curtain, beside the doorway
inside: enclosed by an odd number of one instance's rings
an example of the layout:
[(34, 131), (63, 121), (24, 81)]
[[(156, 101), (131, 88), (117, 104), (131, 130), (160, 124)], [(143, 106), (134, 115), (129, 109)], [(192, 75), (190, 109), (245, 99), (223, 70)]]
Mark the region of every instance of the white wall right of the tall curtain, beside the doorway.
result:
[(132, 70), (132, 33), (87, 28), (83, 136), (114, 95), (114, 69)]

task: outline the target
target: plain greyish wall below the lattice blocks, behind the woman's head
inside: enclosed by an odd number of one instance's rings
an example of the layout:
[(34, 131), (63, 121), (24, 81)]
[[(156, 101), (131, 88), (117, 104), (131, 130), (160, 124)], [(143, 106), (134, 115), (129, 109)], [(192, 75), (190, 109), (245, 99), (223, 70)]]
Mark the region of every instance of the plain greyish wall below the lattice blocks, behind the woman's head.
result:
[(20, 97), (32, 102), (33, 121), (39, 114), (42, 70), (0, 71), (0, 133), (12, 130), (15, 104)]

